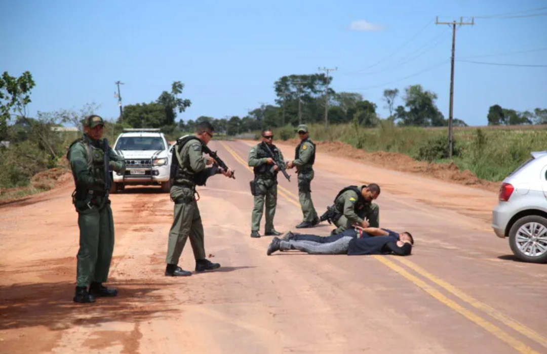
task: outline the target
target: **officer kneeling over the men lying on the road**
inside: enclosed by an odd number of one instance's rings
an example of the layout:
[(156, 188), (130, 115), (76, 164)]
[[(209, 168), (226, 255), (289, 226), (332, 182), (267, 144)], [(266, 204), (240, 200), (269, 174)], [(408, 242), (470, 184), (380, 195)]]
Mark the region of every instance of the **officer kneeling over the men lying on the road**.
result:
[(337, 227), (334, 233), (339, 234), (356, 224), (360, 227), (379, 227), (380, 208), (372, 202), (378, 196), (380, 186), (375, 183), (368, 186), (346, 187), (340, 191), (334, 200), (334, 206), (341, 214), (339, 219), (334, 221)]

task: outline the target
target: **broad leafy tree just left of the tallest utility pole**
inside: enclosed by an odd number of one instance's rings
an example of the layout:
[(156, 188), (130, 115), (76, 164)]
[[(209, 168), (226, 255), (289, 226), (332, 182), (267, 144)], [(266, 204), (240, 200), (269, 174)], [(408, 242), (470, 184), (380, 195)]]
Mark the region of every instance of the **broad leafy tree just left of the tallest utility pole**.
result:
[(422, 85), (411, 85), (405, 88), (403, 99), (405, 107), (409, 110), (402, 106), (395, 110), (395, 119), (400, 119), (400, 124), (422, 127), (447, 125), (443, 114), (435, 105), (437, 94), (434, 92), (423, 90)]

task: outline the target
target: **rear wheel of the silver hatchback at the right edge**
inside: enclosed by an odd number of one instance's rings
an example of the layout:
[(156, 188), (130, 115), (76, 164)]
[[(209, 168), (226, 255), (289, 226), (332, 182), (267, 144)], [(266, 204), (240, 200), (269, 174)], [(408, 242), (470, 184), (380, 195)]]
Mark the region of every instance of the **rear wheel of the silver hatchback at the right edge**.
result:
[(529, 215), (517, 220), (509, 230), (509, 245), (521, 261), (547, 262), (547, 219)]

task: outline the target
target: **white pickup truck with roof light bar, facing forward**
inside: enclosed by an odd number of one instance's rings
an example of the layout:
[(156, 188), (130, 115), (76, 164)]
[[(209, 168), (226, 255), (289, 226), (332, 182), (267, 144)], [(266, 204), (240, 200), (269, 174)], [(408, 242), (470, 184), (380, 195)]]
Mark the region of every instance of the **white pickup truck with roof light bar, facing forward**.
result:
[(122, 191), (126, 185), (161, 185), (171, 189), (170, 145), (160, 129), (124, 129), (113, 146), (125, 159), (125, 173), (114, 173), (111, 191)]

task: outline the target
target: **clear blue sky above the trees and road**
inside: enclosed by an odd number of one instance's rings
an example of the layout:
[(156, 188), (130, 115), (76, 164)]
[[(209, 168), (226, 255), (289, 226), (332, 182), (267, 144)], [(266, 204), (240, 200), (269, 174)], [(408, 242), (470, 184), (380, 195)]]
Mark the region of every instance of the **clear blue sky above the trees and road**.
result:
[[(244, 116), (274, 103), (274, 81), (337, 67), (335, 91), (361, 93), (388, 115), (385, 88), (421, 84), (448, 117), (451, 31), (460, 16), (547, 13), (544, 0), (30, 1), (0, 2), (0, 71), (29, 70), (30, 115), (154, 101), (171, 82), (192, 105), (179, 119)], [(475, 19), (456, 33), (456, 57), (547, 64), (547, 16)], [(411, 40), (414, 38), (414, 40)], [(409, 42), (410, 41), (410, 42)], [(409, 78), (406, 78), (411, 76)], [(406, 78), (406, 79), (405, 79)], [(399, 103), (401, 103), (399, 101)], [(547, 108), (547, 68), (456, 62), (454, 116), (486, 125), (488, 107)]]

